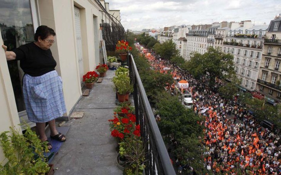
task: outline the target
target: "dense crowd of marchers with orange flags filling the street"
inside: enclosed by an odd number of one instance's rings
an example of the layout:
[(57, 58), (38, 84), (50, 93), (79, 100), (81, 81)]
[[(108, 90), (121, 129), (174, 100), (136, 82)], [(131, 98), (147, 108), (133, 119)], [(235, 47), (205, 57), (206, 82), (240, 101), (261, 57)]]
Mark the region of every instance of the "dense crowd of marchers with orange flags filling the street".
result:
[[(136, 48), (142, 52), (141, 46)], [(148, 54), (149, 53), (149, 54)], [(225, 100), (217, 93), (221, 86), (208, 86), (208, 77), (194, 79), (187, 71), (161, 59), (153, 50), (146, 50), (146, 58), (154, 70), (171, 73), (175, 80), (186, 80), (193, 89), (194, 112), (205, 116), (205, 167), (215, 174), (277, 175), (281, 174), (281, 139), (263, 128), (242, 104)], [(167, 84), (173, 93), (175, 84)]]

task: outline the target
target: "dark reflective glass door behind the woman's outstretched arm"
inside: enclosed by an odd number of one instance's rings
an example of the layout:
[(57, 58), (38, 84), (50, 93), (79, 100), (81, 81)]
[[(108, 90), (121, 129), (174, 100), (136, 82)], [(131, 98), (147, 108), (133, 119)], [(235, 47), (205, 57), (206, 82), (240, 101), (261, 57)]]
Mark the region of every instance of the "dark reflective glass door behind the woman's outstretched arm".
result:
[[(34, 41), (34, 28), (38, 27), (38, 17), (34, 0), (0, 0), (0, 29), (4, 45), (8, 51), (20, 45)], [(36, 26), (34, 26), (34, 24)], [(23, 71), (19, 61), (8, 61), (17, 112), (27, 119), (23, 102), (22, 78)], [(26, 122), (28, 122), (26, 120)]]

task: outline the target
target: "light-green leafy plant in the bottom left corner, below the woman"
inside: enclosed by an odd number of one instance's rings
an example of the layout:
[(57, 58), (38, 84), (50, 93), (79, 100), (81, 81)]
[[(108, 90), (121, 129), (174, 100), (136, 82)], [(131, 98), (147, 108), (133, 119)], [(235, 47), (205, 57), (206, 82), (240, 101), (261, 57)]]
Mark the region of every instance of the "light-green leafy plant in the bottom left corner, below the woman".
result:
[[(10, 127), (10, 131), (1, 133), (1, 147), (8, 162), (0, 164), (1, 175), (45, 174), (49, 166), (44, 152), (48, 152), (47, 143), (42, 143), (29, 127), (22, 135)], [(35, 154), (37, 154), (35, 156)], [(4, 161), (6, 160), (4, 159)]]

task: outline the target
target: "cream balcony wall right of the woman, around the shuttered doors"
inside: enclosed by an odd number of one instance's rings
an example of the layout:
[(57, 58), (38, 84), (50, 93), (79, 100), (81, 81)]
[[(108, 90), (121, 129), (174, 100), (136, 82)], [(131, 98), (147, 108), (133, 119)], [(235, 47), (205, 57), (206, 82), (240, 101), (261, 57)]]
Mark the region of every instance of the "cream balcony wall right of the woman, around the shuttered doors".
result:
[[(98, 64), (95, 62), (95, 51), (93, 49), (95, 48), (93, 15), (100, 18), (100, 12), (88, 1), (82, 0), (39, 0), (38, 2), (41, 24), (52, 27), (57, 34), (57, 42), (51, 50), (57, 63), (59, 63), (56, 70), (63, 79), (63, 93), (67, 113), (69, 113), (82, 95), (78, 61), (76, 60), (74, 6), (80, 9), (84, 73), (94, 70)], [(101, 19), (99, 19), (100, 22)], [(100, 40), (100, 36), (95, 37), (99, 37)]]

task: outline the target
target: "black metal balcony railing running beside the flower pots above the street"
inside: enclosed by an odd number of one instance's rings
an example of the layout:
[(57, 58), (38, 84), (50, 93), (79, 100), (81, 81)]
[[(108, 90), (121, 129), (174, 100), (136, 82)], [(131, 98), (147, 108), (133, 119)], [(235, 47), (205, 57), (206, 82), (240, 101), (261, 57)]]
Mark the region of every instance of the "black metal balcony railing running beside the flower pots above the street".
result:
[(133, 56), (128, 53), (127, 63), (134, 85), (136, 123), (140, 125), (141, 137), (146, 151), (146, 175), (175, 175), (169, 154), (143, 88)]

